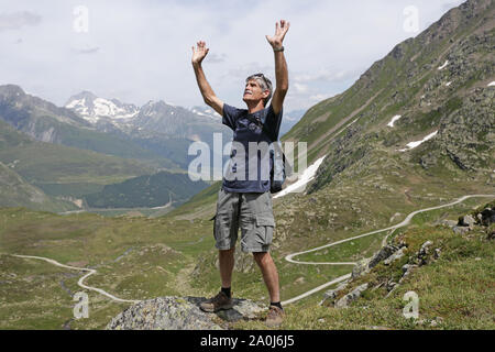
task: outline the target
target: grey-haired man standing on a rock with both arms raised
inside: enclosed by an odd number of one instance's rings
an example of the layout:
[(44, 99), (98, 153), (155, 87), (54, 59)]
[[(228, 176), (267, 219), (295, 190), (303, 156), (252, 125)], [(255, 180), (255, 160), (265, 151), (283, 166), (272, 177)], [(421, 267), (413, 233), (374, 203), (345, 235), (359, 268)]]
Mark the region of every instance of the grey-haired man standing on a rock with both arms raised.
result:
[[(266, 105), (272, 97), (272, 82), (263, 74), (248, 77), (243, 96), (248, 109), (237, 109), (223, 103), (215, 95), (205, 77), (201, 62), (209, 52), (205, 42), (198, 42), (196, 50), (193, 46), (191, 59), (205, 102), (222, 116), (223, 124), (234, 131), (234, 143), (238, 143), (235, 150), (232, 147), (228, 175), (223, 175), (213, 224), (216, 246), (219, 250), (221, 290), (213, 298), (202, 302), (200, 307), (205, 311), (232, 308), (233, 255), (239, 227), (241, 227), (241, 249), (243, 252), (253, 253), (270, 293), (271, 305), (266, 318), (268, 327), (280, 324), (284, 318), (278, 273), (268, 252), (275, 227), (270, 177), (266, 177), (270, 174), (266, 168), (272, 167), (272, 162), (270, 153), (263, 153), (263, 151), (261, 155), (257, 151), (250, 153), (250, 147), (253, 147), (253, 142), (256, 142), (255, 145), (258, 147), (261, 142), (271, 143), (278, 140), (282, 108), (288, 90), (288, 72), (283, 41), (289, 25), (289, 22), (280, 20), (275, 24), (275, 35), (266, 35), (274, 51), (276, 78), (276, 89), (268, 107)], [(239, 146), (243, 146), (245, 153), (240, 153), (242, 147)], [(249, 177), (245, 177), (246, 175)]]

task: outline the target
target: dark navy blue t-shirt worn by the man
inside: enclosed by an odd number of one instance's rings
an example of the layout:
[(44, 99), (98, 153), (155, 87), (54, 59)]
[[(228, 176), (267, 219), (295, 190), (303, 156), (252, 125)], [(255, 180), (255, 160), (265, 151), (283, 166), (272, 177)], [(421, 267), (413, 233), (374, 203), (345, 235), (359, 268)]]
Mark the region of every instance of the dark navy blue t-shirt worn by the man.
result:
[[(249, 113), (246, 109), (223, 105), (222, 123), (234, 131), (230, 161), (223, 173), (222, 188), (224, 190), (270, 191), (270, 170), (273, 167), (270, 147), (272, 142), (278, 140), (282, 114), (282, 109), (278, 114), (275, 114), (272, 105), (254, 113)], [(265, 121), (264, 131), (262, 121)]]

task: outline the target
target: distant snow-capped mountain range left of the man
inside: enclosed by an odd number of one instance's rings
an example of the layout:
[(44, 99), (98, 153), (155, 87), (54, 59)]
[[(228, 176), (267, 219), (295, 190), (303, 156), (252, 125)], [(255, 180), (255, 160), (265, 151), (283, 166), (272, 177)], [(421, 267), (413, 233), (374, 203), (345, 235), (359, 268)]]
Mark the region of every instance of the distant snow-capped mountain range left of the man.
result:
[(202, 141), (211, 146), (213, 133), (221, 133), (223, 141), (232, 138), (221, 118), (206, 107), (186, 109), (163, 100), (150, 100), (136, 108), (117, 99), (98, 98), (88, 91), (70, 97), (65, 107), (95, 129), (129, 139), (183, 169), (187, 169), (191, 161), (187, 151), (193, 142)]

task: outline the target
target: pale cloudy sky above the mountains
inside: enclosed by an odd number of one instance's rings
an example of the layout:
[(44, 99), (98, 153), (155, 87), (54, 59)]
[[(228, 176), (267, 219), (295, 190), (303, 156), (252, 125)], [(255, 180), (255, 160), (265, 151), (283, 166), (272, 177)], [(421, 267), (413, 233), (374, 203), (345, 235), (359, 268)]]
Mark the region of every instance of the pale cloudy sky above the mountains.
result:
[(402, 41), (418, 35), (461, 0), (0, 0), (0, 85), (63, 106), (89, 90), (142, 106), (202, 106), (191, 46), (210, 48), (204, 69), (216, 95), (244, 108), (244, 80), (275, 84), (265, 35), (285, 37), (285, 111), (344, 91)]

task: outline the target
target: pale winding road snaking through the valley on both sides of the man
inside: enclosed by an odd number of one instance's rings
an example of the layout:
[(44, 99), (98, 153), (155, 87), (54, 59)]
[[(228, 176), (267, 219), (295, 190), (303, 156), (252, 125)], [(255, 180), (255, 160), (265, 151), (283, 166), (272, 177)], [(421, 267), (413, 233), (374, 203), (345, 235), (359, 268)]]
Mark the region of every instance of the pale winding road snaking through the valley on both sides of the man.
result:
[[(380, 229), (380, 230), (366, 232), (366, 233), (363, 233), (363, 234), (360, 234), (360, 235), (355, 235), (355, 237), (352, 237), (352, 238), (349, 238), (349, 239), (344, 239), (344, 240), (331, 242), (331, 243), (329, 243), (329, 244), (321, 245), (321, 246), (318, 246), (318, 248), (315, 248), (315, 249), (311, 249), (311, 250), (307, 250), (307, 251), (302, 251), (302, 252), (297, 252), (297, 253), (292, 253), (292, 254), (288, 254), (288, 255), (285, 257), (285, 260), (286, 260), (287, 262), (290, 262), (290, 263), (294, 263), (294, 264), (304, 264), (304, 265), (355, 265), (356, 263), (354, 263), (354, 262), (299, 262), (299, 261), (294, 260), (294, 257), (295, 257), (295, 256), (298, 256), (298, 255), (301, 255), (301, 254), (307, 254), (307, 253), (320, 251), (320, 250), (322, 250), (322, 249), (327, 249), (327, 248), (330, 248), (330, 246), (334, 246), (334, 245), (338, 245), (338, 244), (341, 244), (341, 243), (345, 243), (345, 242), (349, 242), (349, 241), (353, 241), (353, 240), (356, 240), (356, 239), (361, 239), (361, 238), (364, 238), (364, 237), (369, 237), (369, 235), (372, 235), (372, 234), (375, 234), (375, 233), (380, 233), (380, 232), (391, 231), (391, 230), (392, 230), (392, 232), (388, 233), (388, 234), (384, 238), (384, 240), (383, 240), (383, 242), (382, 242), (382, 244), (384, 245), (384, 244), (386, 243), (387, 238), (388, 238), (396, 229), (403, 228), (403, 227), (409, 224), (409, 223), (410, 223), (410, 220), (414, 218), (414, 216), (416, 216), (416, 215), (418, 215), (418, 213), (420, 213), (420, 212), (425, 212), (425, 211), (430, 211), (430, 210), (436, 210), (436, 209), (440, 209), (440, 208), (446, 208), (446, 207), (454, 206), (454, 205), (457, 205), (457, 204), (459, 204), (459, 202), (462, 202), (462, 201), (464, 201), (465, 199), (469, 199), (469, 198), (493, 198), (493, 197), (495, 197), (495, 195), (470, 195), (470, 196), (463, 196), (463, 197), (461, 197), (461, 198), (459, 198), (459, 199), (457, 199), (457, 200), (454, 200), (454, 201), (452, 201), (452, 202), (449, 202), (449, 204), (447, 204), (447, 205), (441, 205), (441, 206), (437, 206), (437, 207), (430, 207), (430, 208), (419, 209), (419, 210), (416, 210), (416, 211), (413, 211), (411, 213), (409, 213), (409, 215), (406, 217), (406, 219), (404, 219), (404, 221), (402, 221), (402, 222), (399, 222), (399, 223), (397, 223), (397, 224), (395, 224), (395, 226), (392, 226), (392, 227), (388, 227), (388, 228), (385, 228), (385, 229)], [(59, 267), (69, 268), (69, 270), (74, 270), (74, 271), (88, 272), (86, 275), (84, 275), (82, 277), (80, 277), (79, 280), (77, 282), (77, 285), (79, 285), (81, 288), (97, 292), (97, 293), (99, 293), (99, 294), (101, 294), (101, 295), (103, 295), (103, 296), (106, 296), (106, 297), (108, 297), (108, 298), (110, 298), (110, 299), (112, 299), (112, 300), (114, 300), (114, 301), (118, 301), (118, 302), (131, 302), (131, 304), (136, 304), (136, 302), (140, 301), (140, 300), (133, 300), (133, 299), (121, 299), (121, 298), (118, 298), (118, 297), (116, 297), (116, 296), (113, 296), (113, 295), (107, 293), (106, 290), (103, 290), (103, 289), (101, 289), (101, 288), (98, 288), (98, 287), (91, 287), (91, 286), (85, 285), (85, 283), (84, 283), (85, 279), (88, 278), (89, 276), (96, 274), (96, 273), (97, 273), (96, 270), (87, 268), (87, 267), (77, 267), (77, 266), (65, 265), (65, 264), (58, 263), (57, 261), (54, 261), (54, 260), (51, 260), (51, 258), (47, 258), (47, 257), (43, 257), (43, 256), (20, 255), (20, 254), (12, 254), (12, 255), (13, 255), (13, 256), (16, 256), (16, 257), (23, 257), (23, 258), (41, 260), (41, 261), (48, 262), (48, 263), (51, 263), (51, 264), (53, 264), (53, 265), (56, 265), (56, 266), (59, 266)], [(342, 276), (339, 276), (339, 277), (337, 277), (337, 278), (334, 278), (334, 279), (332, 279), (332, 280), (330, 280), (330, 282), (323, 284), (323, 285), (320, 285), (320, 286), (318, 286), (318, 287), (315, 287), (315, 288), (312, 288), (312, 289), (310, 289), (310, 290), (308, 290), (308, 292), (306, 292), (306, 293), (304, 293), (304, 294), (301, 294), (301, 295), (299, 295), (299, 296), (296, 296), (296, 297), (294, 297), (294, 298), (284, 300), (284, 301), (282, 302), (282, 305), (289, 305), (289, 304), (293, 304), (293, 302), (295, 302), (295, 301), (297, 301), (297, 300), (299, 300), (299, 299), (302, 299), (302, 298), (305, 298), (305, 297), (308, 297), (308, 296), (310, 296), (310, 295), (312, 295), (312, 294), (315, 294), (315, 293), (317, 293), (317, 292), (320, 292), (320, 290), (322, 290), (322, 289), (324, 289), (324, 288), (327, 288), (327, 287), (329, 287), (329, 286), (331, 286), (331, 285), (334, 285), (334, 284), (337, 284), (337, 283), (343, 282), (343, 280), (345, 280), (345, 279), (348, 279), (348, 278), (350, 278), (350, 277), (351, 277), (351, 273), (345, 274), (345, 275), (342, 275)]]

